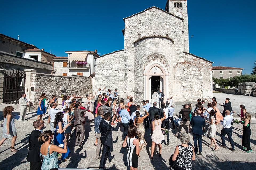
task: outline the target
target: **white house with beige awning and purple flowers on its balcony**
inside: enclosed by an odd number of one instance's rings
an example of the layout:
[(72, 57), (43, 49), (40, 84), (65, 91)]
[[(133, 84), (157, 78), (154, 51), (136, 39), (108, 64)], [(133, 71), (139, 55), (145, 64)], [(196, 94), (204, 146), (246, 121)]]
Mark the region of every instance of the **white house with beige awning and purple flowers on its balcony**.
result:
[(95, 73), (95, 57), (99, 57), (97, 50), (94, 51), (65, 51), (68, 54), (68, 75), (76, 74), (92, 77)]

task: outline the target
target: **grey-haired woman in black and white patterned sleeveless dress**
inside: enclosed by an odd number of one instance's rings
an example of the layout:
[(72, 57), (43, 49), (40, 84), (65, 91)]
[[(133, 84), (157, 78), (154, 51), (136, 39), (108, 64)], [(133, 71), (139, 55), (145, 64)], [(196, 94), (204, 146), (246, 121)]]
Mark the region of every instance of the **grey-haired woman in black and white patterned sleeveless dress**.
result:
[(177, 159), (174, 170), (192, 170), (192, 160), (195, 160), (195, 151), (192, 146), (187, 145), (190, 141), (189, 135), (183, 131), (180, 139), (182, 144), (176, 146), (172, 157), (173, 161)]

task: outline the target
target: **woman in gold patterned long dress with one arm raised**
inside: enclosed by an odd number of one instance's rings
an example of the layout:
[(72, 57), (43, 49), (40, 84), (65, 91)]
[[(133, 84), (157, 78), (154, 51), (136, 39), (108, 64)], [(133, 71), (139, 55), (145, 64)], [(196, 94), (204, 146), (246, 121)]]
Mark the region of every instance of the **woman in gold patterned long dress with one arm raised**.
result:
[(143, 125), (143, 120), (149, 116), (149, 113), (146, 110), (147, 115), (140, 117), (139, 111), (136, 112), (136, 118), (134, 121), (134, 125), (137, 127), (137, 136), (139, 137), (140, 149), (143, 150), (144, 147), (147, 146), (147, 142), (144, 139), (145, 128)]

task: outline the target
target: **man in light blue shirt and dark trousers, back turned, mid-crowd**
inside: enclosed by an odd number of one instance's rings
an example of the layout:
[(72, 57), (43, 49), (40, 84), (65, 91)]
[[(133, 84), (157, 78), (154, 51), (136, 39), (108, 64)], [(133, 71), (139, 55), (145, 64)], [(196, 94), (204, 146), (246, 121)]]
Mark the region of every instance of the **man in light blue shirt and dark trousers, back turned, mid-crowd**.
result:
[(124, 132), (122, 135), (122, 141), (125, 140), (126, 135), (128, 134), (129, 121), (131, 120), (130, 113), (127, 111), (129, 108), (128, 104), (125, 105), (125, 108), (121, 111), (121, 125), (123, 126)]

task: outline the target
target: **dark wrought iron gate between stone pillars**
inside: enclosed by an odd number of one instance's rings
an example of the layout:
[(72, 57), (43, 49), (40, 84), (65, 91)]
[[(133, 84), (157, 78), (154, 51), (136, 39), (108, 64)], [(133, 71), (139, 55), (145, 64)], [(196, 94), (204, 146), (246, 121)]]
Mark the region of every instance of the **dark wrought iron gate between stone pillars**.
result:
[(17, 70), (5, 73), (3, 78), (3, 102), (18, 104), (19, 98), (25, 93), (25, 71)]

